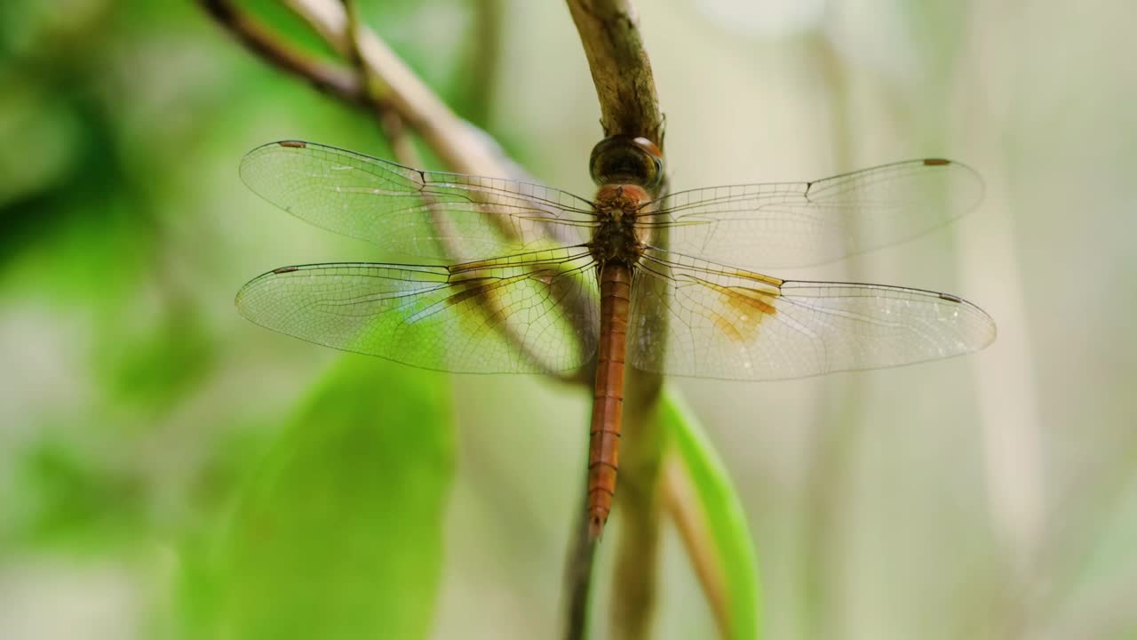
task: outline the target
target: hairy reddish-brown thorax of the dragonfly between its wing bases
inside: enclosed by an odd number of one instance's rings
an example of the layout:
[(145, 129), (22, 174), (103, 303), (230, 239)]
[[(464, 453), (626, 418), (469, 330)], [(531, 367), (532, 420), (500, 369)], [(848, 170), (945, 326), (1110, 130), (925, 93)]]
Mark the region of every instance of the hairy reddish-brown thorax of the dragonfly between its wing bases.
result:
[(605, 184), (596, 194), (597, 225), (589, 243), (592, 257), (604, 264), (633, 264), (644, 254), (644, 229), (637, 225), (640, 208), (650, 199), (637, 184)]

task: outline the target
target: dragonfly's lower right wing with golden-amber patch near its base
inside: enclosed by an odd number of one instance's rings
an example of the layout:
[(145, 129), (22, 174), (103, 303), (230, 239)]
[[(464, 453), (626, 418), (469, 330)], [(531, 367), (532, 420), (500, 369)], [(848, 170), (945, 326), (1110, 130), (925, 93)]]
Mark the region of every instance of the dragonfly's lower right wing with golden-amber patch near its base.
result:
[(637, 270), (630, 325), (633, 367), (745, 380), (910, 364), (995, 339), (990, 317), (949, 294), (782, 281), (657, 249)]

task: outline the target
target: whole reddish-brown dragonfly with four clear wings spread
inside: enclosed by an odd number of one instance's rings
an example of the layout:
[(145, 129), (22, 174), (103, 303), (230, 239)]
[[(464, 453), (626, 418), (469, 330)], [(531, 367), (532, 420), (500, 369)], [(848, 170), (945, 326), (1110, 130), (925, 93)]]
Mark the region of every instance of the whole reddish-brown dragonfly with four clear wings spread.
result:
[(591, 199), (313, 142), (264, 145), (241, 163), (254, 191), (406, 262), (273, 269), (236, 306), (268, 329), (425, 369), (591, 375), (594, 540), (615, 494), (628, 367), (771, 380), (911, 364), (995, 339), (991, 318), (953, 294), (763, 272), (952, 222), (982, 197), (964, 164), (663, 194), (658, 147), (615, 136), (595, 147), (590, 173)]

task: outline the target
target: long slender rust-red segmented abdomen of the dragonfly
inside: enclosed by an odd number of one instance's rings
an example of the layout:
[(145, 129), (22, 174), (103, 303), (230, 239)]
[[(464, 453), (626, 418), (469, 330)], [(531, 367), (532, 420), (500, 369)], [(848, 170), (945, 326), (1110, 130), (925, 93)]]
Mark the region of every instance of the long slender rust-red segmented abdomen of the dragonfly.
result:
[(600, 268), (600, 342), (588, 454), (589, 535), (594, 540), (600, 536), (612, 510), (616, 469), (620, 468), (630, 296), (631, 269), (620, 262), (604, 264)]

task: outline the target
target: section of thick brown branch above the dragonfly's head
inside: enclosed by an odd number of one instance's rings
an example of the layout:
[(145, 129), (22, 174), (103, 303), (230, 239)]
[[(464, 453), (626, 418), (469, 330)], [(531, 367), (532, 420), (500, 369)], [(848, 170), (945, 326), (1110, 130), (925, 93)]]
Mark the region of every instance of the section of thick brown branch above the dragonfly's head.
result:
[(605, 136), (642, 136), (663, 148), (663, 115), (631, 0), (567, 0), (600, 99)]

